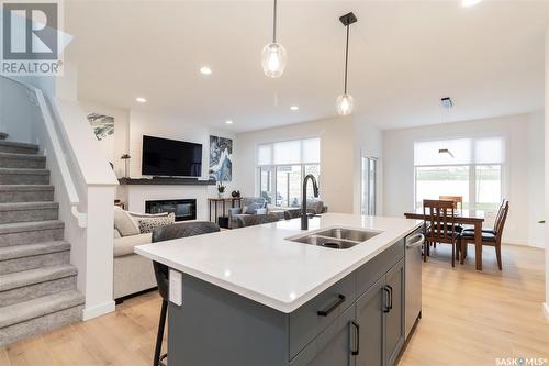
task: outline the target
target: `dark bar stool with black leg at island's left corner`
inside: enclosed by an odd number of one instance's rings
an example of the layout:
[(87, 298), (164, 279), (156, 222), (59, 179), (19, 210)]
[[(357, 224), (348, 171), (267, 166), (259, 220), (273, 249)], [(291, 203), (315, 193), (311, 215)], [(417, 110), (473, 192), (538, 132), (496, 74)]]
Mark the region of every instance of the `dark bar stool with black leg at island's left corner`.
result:
[[(179, 237), (202, 235), (209, 233), (215, 233), (220, 231), (220, 226), (216, 223), (209, 221), (193, 221), (193, 222), (182, 222), (172, 225), (157, 228), (153, 232), (153, 243), (170, 241)], [(169, 268), (158, 262), (153, 262), (153, 267), (155, 269), (156, 282), (158, 285), (158, 292), (163, 298), (163, 303), (160, 307), (160, 319), (158, 321), (158, 332), (156, 334), (156, 345), (155, 355), (153, 358), (153, 366), (167, 366), (165, 362), (168, 354), (165, 353), (160, 355), (164, 339), (164, 328), (166, 325), (166, 315), (168, 313), (168, 300), (169, 300)]]

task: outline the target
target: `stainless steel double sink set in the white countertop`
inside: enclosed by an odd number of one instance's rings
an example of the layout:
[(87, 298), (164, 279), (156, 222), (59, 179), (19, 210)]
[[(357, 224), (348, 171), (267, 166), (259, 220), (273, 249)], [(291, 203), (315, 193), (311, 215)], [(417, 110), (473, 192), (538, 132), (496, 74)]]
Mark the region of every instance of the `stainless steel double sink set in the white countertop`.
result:
[(289, 237), (291, 242), (318, 245), (333, 249), (348, 249), (381, 234), (376, 230), (357, 230), (348, 228), (332, 228), (317, 232)]

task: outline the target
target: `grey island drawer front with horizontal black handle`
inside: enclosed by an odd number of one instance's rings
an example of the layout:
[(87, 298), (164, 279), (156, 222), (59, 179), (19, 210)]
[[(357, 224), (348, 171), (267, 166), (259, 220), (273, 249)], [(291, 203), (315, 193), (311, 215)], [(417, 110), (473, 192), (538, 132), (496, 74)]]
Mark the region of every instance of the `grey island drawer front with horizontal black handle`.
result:
[[(352, 273), (290, 314), (289, 359), (355, 303), (355, 286)], [(326, 313), (321, 315), (318, 311)]]

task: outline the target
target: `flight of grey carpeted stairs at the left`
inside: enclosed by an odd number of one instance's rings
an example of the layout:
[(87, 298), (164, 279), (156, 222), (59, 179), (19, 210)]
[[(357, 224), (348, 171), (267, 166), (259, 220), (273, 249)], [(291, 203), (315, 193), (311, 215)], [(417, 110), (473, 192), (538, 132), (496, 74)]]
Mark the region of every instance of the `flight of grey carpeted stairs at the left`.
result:
[(46, 157), (0, 133), (0, 346), (81, 320)]

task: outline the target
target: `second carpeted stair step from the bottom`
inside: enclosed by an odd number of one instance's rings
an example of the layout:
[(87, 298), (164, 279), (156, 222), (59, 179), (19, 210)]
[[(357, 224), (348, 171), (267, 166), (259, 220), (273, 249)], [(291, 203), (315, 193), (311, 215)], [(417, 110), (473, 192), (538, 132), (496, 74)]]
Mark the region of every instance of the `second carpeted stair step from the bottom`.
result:
[(0, 308), (76, 289), (78, 270), (70, 264), (0, 276)]

